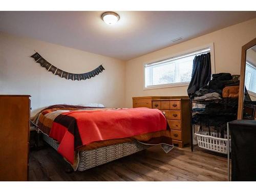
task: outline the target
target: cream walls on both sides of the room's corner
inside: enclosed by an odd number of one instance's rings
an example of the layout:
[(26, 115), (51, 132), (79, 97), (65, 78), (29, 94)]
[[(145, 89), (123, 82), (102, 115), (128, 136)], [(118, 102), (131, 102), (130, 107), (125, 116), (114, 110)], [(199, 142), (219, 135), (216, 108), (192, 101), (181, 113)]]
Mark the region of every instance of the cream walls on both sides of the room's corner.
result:
[[(143, 90), (144, 63), (214, 43), (216, 73), (240, 74), (241, 47), (256, 35), (256, 19), (230, 26), (129, 61), (0, 33), (0, 94), (31, 95), (32, 112), (56, 103), (98, 102), (106, 107), (132, 107), (134, 96), (186, 95), (187, 87)], [(41, 68), (30, 57), (38, 51), (56, 67), (73, 73), (103, 64), (106, 69), (90, 80), (72, 81)]]

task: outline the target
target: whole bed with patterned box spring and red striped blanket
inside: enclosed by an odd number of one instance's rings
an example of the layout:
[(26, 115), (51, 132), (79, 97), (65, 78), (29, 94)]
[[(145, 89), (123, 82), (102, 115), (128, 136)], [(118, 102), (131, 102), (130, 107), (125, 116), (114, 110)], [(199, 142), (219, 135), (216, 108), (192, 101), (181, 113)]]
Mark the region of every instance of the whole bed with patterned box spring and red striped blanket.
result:
[(43, 139), (79, 171), (153, 145), (160, 144), (166, 153), (174, 147), (166, 118), (157, 109), (58, 104), (32, 120)]

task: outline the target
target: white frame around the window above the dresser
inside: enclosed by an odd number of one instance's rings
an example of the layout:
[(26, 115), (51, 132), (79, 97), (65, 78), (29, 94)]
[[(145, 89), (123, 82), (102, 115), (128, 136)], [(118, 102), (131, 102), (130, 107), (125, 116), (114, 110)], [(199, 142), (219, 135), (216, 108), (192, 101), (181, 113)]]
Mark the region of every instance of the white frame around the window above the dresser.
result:
[(214, 55), (214, 43), (212, 42), (212, 43), (204, 45), (204, 46), (196, 47), (193, 49), (186, 50), (184, 52), (168, 55), (166, 57), (154, 59), (154, 60), (144, 63), (144, 65), (143, 65), (143, 90), (153, 90), (153, 89), (164, 89), (164, 88), (188, 86), (189, 82), (179, 82), (179, 83), (158, 84), (155, 86), (145, 87), (145, 67), (150, 63), (159, 62), (159, 61), (166, 60), (166, 59), (171, 59), (173, 57), (186, 55), (189, 53), (193, 53), (193, 52), (200, 51), (203, 49), (208, 49), (208, 48), (210, 49), (211, 74), (214, 74), (215, 73), (215, 55)]

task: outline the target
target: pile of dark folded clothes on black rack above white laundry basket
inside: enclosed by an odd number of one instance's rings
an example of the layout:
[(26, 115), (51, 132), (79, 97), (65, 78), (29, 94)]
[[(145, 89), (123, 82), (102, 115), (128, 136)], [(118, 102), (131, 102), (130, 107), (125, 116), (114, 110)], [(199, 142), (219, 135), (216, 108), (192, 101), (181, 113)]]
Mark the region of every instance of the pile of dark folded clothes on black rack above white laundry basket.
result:
[[(200, 127), (214, 127), (214, 131), (224, 138), (226, 123), (237, 119), (238, 102), (236, 99), (223, 99), (238, 97), (239, 75), (230, 73), (212, 74), (207, 86), (200, 88), (194, 94), (192, 102), (193, 124)], [(212, 101), (211, 101), (212, 100)]]

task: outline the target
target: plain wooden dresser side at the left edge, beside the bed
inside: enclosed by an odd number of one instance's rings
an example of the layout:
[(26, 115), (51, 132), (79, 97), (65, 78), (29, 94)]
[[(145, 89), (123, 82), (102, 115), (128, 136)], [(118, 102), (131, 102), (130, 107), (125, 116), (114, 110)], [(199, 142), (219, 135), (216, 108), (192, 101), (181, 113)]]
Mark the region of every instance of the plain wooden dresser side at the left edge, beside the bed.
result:
[(0, 95), (0, 181), (28, 180), (29, 95)]

